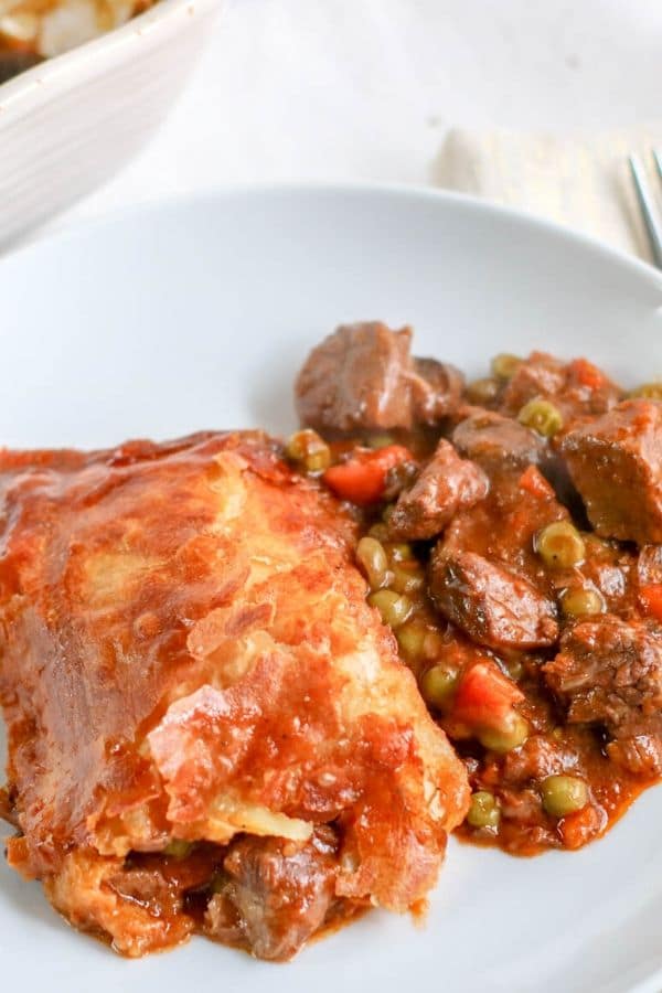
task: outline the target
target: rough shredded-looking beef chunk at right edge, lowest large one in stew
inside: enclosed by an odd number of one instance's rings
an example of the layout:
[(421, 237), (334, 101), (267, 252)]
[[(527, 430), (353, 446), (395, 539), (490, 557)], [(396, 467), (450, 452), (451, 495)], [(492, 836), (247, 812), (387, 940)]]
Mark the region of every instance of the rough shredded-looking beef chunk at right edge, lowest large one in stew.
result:
[(598, 724), (609, 756), (638, 775), (662, 772), (662, 631), (605, 616), (575, 624), (545, 679), (574, 724)]

